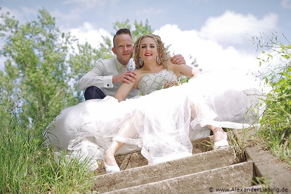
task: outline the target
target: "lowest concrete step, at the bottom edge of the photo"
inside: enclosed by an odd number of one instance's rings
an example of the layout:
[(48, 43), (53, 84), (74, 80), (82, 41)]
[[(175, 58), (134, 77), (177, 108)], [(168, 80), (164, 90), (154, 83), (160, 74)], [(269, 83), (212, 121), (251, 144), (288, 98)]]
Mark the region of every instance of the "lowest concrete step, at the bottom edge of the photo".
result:
[[(116, 173), (117, 174), (117, 173)], [(129, 177), (128, 177), (129, 178)], [(115, 190), (110, 194), (209, 194), (219, 188), (246, 188), (252, 185), (253, 162), (191, 173), (158, 182)], [(134, 181), (134, 178), (131, 179)], [(100, 193), (102, 193), (100, 191)]]

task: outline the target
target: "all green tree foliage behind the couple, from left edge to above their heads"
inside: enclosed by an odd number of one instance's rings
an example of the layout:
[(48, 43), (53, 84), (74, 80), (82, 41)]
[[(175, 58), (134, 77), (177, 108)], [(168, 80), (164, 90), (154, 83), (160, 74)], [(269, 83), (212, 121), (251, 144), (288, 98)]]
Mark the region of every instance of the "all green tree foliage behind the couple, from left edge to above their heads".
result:
[[(80, 43), (70, 32), (60, 32), (55, 18), (40, 9), (37, 20), (20, 25), (10, 14), (2, 13), (0, 55), (6, 59), (0, 70), (0, 104), (15, 104), (17, 114), (42, 129), (66, 106), (84, 100), (78, 80), (100, 59), (113, 57), (112, 37), (103, 36), (97, 48)], [(116, 21), (116, 30), (128, 28), (133, 40), (153, 30), (146, 20)], [(37, 121), (37, 122), (36, 122)]]

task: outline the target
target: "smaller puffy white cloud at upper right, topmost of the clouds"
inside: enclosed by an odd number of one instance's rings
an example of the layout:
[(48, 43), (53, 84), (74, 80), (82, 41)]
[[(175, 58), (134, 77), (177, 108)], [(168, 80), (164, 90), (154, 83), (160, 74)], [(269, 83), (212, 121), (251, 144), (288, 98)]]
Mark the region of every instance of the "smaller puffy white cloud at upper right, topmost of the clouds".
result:
[(210, 17), (201, 28), (199, 35), (203, 38), (220, 42), (243, 44), (251, 35), (258, 32), (273, 32), (278, 29), (278, 15), (269, 13), (257, 18), (252, 14), (242, 15), (226, 11), (219, 17)]

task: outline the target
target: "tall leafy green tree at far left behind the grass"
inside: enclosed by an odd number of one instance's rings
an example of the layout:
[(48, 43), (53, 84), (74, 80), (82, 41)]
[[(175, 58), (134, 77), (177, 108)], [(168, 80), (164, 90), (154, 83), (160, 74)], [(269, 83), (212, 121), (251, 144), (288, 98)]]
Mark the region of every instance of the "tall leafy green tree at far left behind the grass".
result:
[(4, 41), (0, 54), (7, 59), (0, 74), (3, 85), (7, 84), (0, 89), (2, 100), (20, 98), (23, 112), (32, 122), (47, 124), (66, 105), (63, 99), (72, 98), (66, 57), (73, 39), (58, 30), (55, 18), (45, 9), (39, 10), (37, 21), (25, 25), (19, 25), (9, 13), (0, 17)]

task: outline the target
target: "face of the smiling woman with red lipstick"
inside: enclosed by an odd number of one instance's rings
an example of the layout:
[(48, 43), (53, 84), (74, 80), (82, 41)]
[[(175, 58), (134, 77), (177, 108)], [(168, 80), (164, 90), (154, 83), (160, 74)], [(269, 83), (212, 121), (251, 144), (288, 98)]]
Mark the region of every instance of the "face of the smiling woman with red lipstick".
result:
[(140, 57), (144, 62), (152, 61), (157, 58), (158, 48), (156, 41), (151, 37), (145, 37), (140, 43)]

